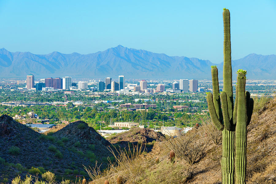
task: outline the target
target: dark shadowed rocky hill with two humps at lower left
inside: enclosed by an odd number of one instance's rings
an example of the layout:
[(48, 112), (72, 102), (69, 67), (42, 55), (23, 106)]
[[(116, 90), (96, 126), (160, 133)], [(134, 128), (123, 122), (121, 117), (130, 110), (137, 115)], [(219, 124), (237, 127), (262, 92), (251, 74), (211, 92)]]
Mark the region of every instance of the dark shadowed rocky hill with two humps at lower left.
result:
[[(87, 176), (84, 166), (95, 160), (107, 165), (111, 154), (108, 141), (83, 121), (70, 123), (55, 133), (43, 135), (7, 115), (0, 117), (0, 182), (9, 182), (18, 174), (51, 171), (62, 178)], [(32, 169), (32, 167), (34, 167)], [(37, 169), (36, 169), (37, 168)]]

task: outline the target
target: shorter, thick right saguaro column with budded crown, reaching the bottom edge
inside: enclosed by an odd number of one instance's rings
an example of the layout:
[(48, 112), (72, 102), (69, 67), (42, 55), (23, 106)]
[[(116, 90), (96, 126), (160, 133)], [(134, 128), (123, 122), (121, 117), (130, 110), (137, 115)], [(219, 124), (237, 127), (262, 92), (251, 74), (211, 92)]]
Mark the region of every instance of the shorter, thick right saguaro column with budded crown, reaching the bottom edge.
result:
[(246, 111), (246, 71), (238, 70), (238, 105), (237, 105), (237, 124), (236, 124), (236, 157), (235, 157), (235, 174), (236, 183), (245, 184), (246, 180), (246, 143), (247, 143), (247, 111)]

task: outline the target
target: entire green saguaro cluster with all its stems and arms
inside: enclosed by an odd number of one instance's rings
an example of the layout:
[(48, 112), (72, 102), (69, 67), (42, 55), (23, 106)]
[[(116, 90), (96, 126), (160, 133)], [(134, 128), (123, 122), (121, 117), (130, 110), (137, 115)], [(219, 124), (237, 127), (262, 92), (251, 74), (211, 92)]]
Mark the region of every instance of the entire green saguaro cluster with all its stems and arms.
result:
[[(223, 92), (219, 91), (218, 70), (212, 66), (213, 94), (207, 93), (210, 117), (217, 129), (222, 131), (222, 183), (234, 183), (234, 159), (236, 183), (245, 183), (247, 125), (251, 120), (253, 99), (245, 92), (246, 71), (239, 70), (236, 85), (236, 101), (233, 102), (230, 12), (223, 10), (224, 64)], [(220, 103), (221, 102), (221, 103)], [(235, 134), (236, 130), (236, 134)], [(235, 141), (236, 135), (236, 141)], [(236, 158), (235, 158), (236, 143)]]

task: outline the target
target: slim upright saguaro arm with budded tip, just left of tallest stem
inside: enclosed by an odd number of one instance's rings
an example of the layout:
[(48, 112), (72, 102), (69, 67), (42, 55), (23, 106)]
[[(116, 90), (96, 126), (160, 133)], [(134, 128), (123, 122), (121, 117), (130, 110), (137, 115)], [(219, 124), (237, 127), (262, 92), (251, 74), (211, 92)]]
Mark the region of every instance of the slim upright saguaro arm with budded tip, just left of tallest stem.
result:
[(222, 112), (220, 108), (220, 87), (219, 87), (219, 82), (218, 82), (218, 70), (217, 66), (211, 66), (211, 74), (212, 74), (212, 84), (213, 84), (213, 102), (214, 102), (214, 107), (216, 109), (217, 116), (222, 122), (223, 117), (222, 117)]

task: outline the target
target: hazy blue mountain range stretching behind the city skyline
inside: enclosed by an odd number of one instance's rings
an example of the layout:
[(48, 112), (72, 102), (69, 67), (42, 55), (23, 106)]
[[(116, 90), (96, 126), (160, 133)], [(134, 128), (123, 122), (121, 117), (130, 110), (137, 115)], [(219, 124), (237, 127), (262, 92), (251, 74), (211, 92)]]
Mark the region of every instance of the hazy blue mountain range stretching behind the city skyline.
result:
[[(167, 56), (146, 50), (118, 45), (103, 52), (82, 55), (52, 52), (46, 55), (30, 52), (9, 52), (0, 49), (0, 77), (35, 78), (63, 77), (105, 78), (125, 75), (126, 78), (161, 79), (210, 79), (211, 66), (217, 65), (222, 78), (223, 62), (185, 56)], [(249, 54), (232, 60), (233, 77), (238, 69), (247, 70), (248, 79), (275, 79), (276, 55)]]

